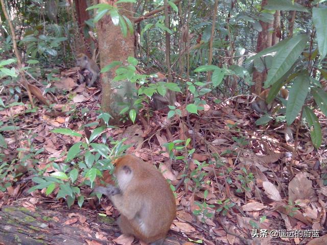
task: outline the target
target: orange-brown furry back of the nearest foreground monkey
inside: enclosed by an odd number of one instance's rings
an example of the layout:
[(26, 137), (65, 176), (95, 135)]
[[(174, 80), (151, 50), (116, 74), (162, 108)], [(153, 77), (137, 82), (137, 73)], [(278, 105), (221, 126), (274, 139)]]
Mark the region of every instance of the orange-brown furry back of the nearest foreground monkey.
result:
[[(118, 165), (130, 166), (137, 180), (126, 189), (141, 203), (135, 222), (131, 222), (134, 235), (145, 242), (164, 238), (176, 216), (176, 202), (167, 180), (155, 166), (131, 156), (130, 161)], [(141, 195), (140, 195), (141, 194)]]

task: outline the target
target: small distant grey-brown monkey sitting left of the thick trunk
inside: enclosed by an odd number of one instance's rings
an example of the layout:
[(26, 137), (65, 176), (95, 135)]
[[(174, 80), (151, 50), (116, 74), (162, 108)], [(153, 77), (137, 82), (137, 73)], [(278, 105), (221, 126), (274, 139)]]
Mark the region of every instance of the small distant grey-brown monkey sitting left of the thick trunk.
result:
[[(86, 76), (86, 86), (91, 87), (94, 84), (94, 82), (97, 81), (100, 73), (100, 69), (96, 64), (96, 62), (88, 58), (85, 54), (79, 54), (76, 57), (76, 65), (80, 67), (81, 71), (83, 69), (87, 69), (89, 71), (89, 75)], [(89, 80), (89, 78), (91, 79)], [(84, 77), (83, 77), (83, 81), (84, 81)]]

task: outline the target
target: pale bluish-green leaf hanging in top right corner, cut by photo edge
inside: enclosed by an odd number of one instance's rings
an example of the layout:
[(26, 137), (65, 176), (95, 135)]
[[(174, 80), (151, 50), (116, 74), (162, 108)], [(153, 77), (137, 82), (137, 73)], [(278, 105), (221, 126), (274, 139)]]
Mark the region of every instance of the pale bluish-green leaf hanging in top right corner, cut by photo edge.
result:
[(317, 30), (317, 42), (322, 60), (327, 55), (327, 8), (313, 8), (312, 18)]

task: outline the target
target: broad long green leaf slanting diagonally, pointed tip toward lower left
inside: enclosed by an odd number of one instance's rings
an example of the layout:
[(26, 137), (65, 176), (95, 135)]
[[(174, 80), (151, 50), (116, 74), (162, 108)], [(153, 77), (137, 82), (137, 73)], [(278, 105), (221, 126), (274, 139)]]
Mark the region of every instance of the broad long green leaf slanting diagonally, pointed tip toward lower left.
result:
[(282, 78), (286, 72), (292, 67), (295, 61), (305, 48), (308, 41), (307, 34), (301, 34), (292, 37), (282, 46), (273, 58), (270, 70), (268, 71), (265, 87), (268, 88), (277, 80)]

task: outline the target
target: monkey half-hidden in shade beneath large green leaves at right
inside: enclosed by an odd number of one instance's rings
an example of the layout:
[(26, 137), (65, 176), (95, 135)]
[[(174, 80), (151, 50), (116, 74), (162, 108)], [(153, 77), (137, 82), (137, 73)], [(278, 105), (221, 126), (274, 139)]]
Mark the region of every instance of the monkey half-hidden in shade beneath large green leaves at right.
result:
[[(265, 89), (264, 91), (262, 91), (256, 97), (254, 102), (252, 102), (251, 108), (258, 113), (264, 113), (264, 112), (271, 113), (272, 110), (274, 109), (274, 107), (276, 106), (277, 101), (276, 101), (276, 99), (274, 99), (271, 103), (267, 103), (268, 94), (269, 94), (269, 89)], [(282, 98), (284, 98), (285, 100), (287, 100), (288, 99), (288, 90), (281, 88), (281, 90), (279, 90), (278, 95), (281, 96)]]

